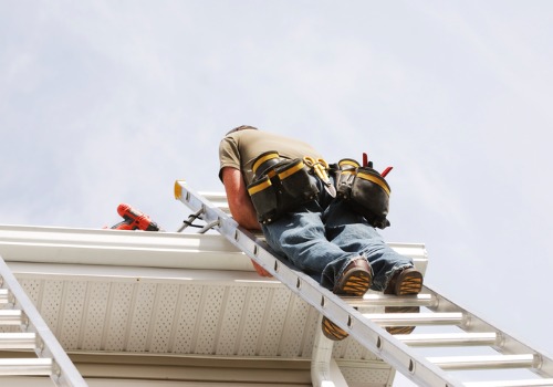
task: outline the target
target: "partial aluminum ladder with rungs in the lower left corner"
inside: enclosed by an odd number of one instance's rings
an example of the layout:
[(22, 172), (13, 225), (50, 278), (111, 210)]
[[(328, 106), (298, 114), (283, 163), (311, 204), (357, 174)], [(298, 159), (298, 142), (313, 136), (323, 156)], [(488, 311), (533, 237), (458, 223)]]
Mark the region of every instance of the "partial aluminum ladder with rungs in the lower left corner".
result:
[(86, 386), (1, 257), (0, 305), (2, 327), (0, 349), (7, 353), (34, 351), (36, 355), (36, 357), (0, 357), (0, 384), (2, 376), (49, 376), (55, 386)]

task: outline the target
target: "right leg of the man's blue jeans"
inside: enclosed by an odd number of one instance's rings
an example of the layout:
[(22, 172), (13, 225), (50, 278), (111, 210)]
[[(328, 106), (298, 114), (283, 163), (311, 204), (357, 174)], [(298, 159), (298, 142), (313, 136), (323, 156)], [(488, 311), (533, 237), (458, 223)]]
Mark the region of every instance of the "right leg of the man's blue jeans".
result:
[(371, 289), (383, 291), (392, 275), (413, 266), (413, 260), (389, 248), (365, 218), (340, 200), (334, 200), (324, 213), (326, 237), (342, 250), (364, 255), (373, 270)]

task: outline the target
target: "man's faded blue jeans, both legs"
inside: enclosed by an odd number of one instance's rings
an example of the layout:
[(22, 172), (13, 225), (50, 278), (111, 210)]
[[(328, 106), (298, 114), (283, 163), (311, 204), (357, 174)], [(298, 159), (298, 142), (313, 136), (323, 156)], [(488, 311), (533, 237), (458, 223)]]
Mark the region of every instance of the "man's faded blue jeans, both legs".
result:
[(364, 257), (373, 271), (371, 289), (383, 291), (398, 270), (413, 266), (410, 258), (390, 249), (364, 217), (342, 199), (332, 198), (317, 180), (316, 200), (263, 224), (267, 243), (276, 254), (332, 290), (344, 269)]

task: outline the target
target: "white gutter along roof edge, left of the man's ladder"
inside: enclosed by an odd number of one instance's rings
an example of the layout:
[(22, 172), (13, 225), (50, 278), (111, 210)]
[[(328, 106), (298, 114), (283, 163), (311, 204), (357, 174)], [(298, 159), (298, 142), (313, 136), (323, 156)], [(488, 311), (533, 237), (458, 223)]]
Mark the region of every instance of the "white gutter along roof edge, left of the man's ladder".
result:
[(252, 270), (219, 234), (0, 226), (0, 255), (8, 262)]

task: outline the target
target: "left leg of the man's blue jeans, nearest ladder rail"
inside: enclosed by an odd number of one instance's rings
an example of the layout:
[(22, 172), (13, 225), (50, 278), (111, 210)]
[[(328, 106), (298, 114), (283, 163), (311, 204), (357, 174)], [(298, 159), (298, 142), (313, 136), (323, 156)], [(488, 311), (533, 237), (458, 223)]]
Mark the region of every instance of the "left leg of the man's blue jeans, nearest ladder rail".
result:
[(267, 243), (299, 270), (332, 290), (343, 269), (356, 257), (330, 242), (322, 209), (310, 201), (270, 224), (263, 224)]

